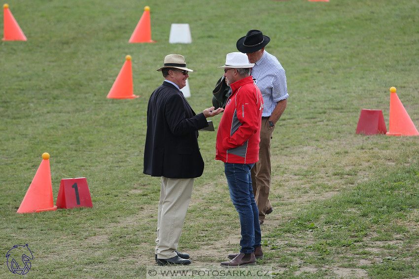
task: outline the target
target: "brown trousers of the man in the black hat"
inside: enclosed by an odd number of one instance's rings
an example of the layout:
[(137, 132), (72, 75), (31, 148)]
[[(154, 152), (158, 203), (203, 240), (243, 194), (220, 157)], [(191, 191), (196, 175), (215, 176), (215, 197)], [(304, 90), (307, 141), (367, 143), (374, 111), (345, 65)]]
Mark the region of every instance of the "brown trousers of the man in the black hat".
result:
[(265, 220), (265, 213), (272, 208), (269, 200), (271, 188), (271, 140), (275, 126), (269, 125), (268, 119), (262, 119), (259, 143), (259, 161), (251, 170), (253, 195), (259, 210), (259, 220)]

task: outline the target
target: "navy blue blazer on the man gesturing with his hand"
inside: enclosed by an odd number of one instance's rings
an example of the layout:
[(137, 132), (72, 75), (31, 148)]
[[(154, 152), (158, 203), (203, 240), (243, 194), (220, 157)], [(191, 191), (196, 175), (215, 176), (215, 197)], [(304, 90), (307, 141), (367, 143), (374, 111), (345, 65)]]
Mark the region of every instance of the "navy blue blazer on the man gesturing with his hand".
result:
[(150, 96), (143, 173), (167, 178), (196, 178), (204, 172), (198, 130), (207, 127), (173, 84), (163, 82)]

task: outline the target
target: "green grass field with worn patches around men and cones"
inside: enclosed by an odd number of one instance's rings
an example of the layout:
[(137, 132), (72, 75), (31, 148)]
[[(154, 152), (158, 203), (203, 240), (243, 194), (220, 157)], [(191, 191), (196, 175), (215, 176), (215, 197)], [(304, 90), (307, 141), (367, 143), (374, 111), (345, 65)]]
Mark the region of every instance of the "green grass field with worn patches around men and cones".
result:
[[(250, 29), (271, 37), (266, 50), (290, 95), (272, 143), (274, 212), (258, 267), (289, 279), (419, 278), (419, 138), (355, 134), (363, 108), (383, 110), (388, 129), (391, 86), (419, 126), (418, 0), (7, 3), (28, 41), (0, 46), (0, 278), (19, 277), (5, 255), (25, 244), (34, 255), (25, 278), (146, 278), (160, 189), (142, 174), (156, 69), (184, 55), (194, 70), (188, 100), (201, 112), (217, 66)], [(130, 44), (146, 5), (156, 42)], [(169, 44), (172, 23), (189, 23), (192, 44)], [(107, 99), (126, 55), (140, 97)], [(238, 251), (240, 224), (215, 133), (199, 142), (206, 168), (179, 250), (218, 267)], [(54, 202), (61, 179), (86, 177), (93, 208), (16, 213), (44, 152)]]

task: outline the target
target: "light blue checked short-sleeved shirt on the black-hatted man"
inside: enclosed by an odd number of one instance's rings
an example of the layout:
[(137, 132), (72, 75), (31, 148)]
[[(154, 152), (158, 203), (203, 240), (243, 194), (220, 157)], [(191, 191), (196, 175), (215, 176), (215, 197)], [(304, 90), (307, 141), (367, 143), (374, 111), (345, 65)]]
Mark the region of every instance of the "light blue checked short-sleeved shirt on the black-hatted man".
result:
[(285, 70), (266, 50), (252, 68), (252, 76), (263, 96), (262, 117), (271, 116), (277, 103), (288, 98)]

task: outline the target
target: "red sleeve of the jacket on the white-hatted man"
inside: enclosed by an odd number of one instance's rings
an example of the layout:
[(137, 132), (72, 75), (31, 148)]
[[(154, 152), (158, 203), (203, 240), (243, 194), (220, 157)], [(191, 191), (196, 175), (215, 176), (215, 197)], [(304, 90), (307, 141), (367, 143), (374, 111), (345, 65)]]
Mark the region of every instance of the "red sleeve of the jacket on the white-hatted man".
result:
[(236, 117), (241, 123), (233, 134), (223, 140), (223, 148), (242, 146), (258, 130), (257, 110), (260, 108), (254, 93), (239, 93), (236, 96)]

